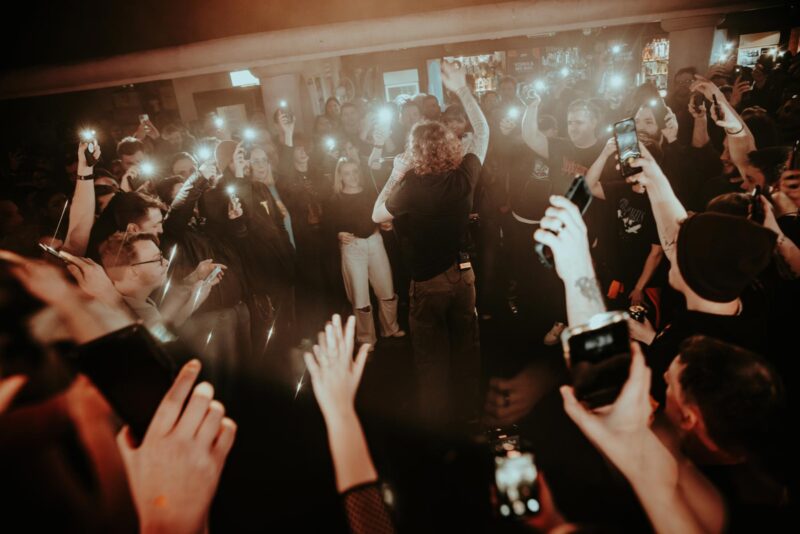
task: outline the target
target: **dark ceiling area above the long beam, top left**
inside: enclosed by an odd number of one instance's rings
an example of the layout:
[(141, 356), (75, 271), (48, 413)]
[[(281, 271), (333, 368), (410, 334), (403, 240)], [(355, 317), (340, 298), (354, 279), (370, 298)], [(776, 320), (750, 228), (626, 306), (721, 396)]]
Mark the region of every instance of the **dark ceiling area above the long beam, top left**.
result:
[[(232, 35), (365, 20), (491, 0), (28, 0), (5, 18), (0, 70), (79, 62)], [(13, 51), (13, 52), (11, 52)]]

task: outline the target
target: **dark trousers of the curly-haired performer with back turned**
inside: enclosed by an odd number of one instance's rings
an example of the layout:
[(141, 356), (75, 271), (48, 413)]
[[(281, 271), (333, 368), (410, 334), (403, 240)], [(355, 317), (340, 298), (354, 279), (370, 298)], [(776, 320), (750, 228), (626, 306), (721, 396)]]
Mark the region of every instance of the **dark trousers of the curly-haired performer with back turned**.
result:
[(409, 325), (420, 414), (428, 423), (463, 420), (480, 406), (475, 273), (447, 271), (411, 282)]

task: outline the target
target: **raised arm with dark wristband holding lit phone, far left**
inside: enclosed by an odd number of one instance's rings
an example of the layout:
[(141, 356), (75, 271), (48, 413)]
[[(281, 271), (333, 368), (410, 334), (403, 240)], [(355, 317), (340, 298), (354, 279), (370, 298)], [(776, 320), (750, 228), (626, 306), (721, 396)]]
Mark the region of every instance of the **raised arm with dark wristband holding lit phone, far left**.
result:
[[(100, 145), (93, 141), (95, 150), (94, 158), (100, 157)], [(72, 195), (72, 205), (69, 208), (69, 227), (67, 238), (64, 240), (63, 250), (76, 256), (85, 256), (89, 246), (89, 234), (94, 225), (94, 167), (86, 164), (85, 151), (88, 143), (78, 145), (78, 182), (75, 184), (75, 193)]]

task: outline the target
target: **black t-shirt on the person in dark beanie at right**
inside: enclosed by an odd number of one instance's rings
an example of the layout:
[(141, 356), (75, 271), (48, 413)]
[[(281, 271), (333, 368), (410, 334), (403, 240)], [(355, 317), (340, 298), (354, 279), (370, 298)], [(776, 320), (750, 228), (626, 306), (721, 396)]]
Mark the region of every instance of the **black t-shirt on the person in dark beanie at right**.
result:
[(692, 336), (703, 335), (731, 343), (758, 354), (769, 347), (767, 329), (768, 305), (761, 289), (748, 288), (741, 296), (739, 315), (714, 315), (683, 309), (646, 347), (647, 364), (653, 370), (651, 394), (664, 403), (666, 383), (664, 372), (678, 355), (681, 343)]

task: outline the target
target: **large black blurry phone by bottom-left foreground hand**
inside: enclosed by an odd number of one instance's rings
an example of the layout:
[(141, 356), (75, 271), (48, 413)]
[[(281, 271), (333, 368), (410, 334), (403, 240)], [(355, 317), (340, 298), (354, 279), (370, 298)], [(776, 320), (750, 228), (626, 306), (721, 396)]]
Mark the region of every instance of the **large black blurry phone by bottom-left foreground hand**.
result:
[(164, 347), (134, 324), (81, 345), (75, 358), (78, 370), (141, 440), (177, 373)]

